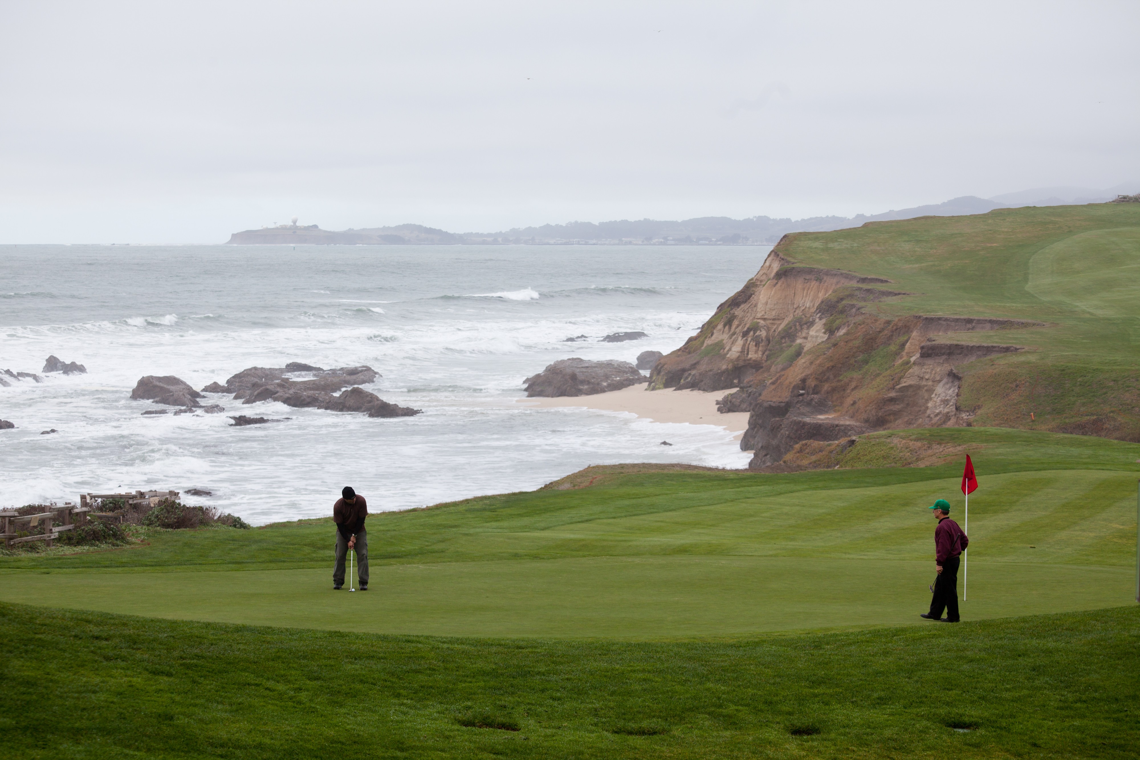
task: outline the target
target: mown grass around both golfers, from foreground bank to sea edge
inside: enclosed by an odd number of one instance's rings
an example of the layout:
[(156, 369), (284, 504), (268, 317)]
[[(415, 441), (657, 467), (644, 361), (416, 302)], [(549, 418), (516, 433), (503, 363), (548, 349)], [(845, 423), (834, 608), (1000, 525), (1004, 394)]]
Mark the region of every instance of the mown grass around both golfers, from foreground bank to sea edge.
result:
[[(891, 432), (971, 451), (967, 620), (1134, 594), (1140, 446), (1011, 430)], [(589, 488), (368, 518), (372, 582), (332, 591), (327, 520), (161, 531), (130, 549), (0, 558), (0, 600), (359, 632), (662, 639), (919, 620), (960, 463), (789, 475), (606, 475)], [(964, 578), (960, 578), (962, 585)]]

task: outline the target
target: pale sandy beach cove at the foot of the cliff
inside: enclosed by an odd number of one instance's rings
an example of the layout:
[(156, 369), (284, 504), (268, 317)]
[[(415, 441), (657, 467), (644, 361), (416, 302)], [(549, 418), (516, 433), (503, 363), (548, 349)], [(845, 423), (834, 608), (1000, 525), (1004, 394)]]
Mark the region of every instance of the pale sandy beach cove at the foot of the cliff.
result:
[(728, 391), (646, 391), (645, 385), (632, 385), (620, 391), (576, 395), (557, 399), (520, 399), (515, 403), (531, 407), (585, 407), (604, 411), (629, 411), (657, 423), (689, 423), (716, 425), (735, 433), (740, 439), (748, 430), (748, 412), (722, 415), (716, 410), (717, 399)]

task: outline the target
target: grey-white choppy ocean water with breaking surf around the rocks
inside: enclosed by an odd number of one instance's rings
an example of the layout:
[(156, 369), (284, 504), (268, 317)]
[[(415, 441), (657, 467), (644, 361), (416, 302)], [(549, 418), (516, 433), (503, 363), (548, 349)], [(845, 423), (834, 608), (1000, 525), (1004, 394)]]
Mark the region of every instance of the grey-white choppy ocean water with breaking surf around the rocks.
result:
[[(382, 510), (534, 489), (592, 464), (743, 467), (715, 425), (515, 400), (557, 359), (676, 349), (768, 248), (3, 246), (0, 369), (43, 375), (56, 354), (88, 374), (0, 387), (0, 418), (17, 425), (0, 431), (0, 507), (196, 487), (213, 496), (188, 502), (264, 524), (329, 514), (345, 484)], [(624, 330), (649, 337), (598, 342)], [(207, 395), (226, 414), (144, 417), (165, 407), (130, 399), (142, 375), (199, 389), (290, 361), (369, 365), (383, 377), (366, 390), (423, 414)], [(235, 414), (291, 419), (231, 427)]]

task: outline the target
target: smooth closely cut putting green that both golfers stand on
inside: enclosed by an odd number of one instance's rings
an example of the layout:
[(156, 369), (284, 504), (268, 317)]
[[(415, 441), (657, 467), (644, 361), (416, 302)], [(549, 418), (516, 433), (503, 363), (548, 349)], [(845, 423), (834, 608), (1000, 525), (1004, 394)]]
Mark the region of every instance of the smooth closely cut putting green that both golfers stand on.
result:
[[(10, 575), (0, 577), (3, 580)], [(435, 636), (667, 638), (919, 623), (929, 562), (585, 557), (386, 565), (369, 590), (327, 570), (52, 573), (6, 602), (152, 618)], [(975, 563), (970, 620), (1127, 604), (1126, 567)], [(0, 581), (2, 582), (2, 581)]]

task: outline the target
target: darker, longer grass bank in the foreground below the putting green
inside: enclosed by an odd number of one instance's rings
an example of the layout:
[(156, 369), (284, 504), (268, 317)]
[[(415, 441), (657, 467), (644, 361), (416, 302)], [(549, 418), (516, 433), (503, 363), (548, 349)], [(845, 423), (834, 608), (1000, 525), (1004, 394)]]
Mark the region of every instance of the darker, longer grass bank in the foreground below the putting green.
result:
[(1132, 758), (1140, 745), (1135, 607), (622, 643), (0, 604), (0, 637), (13, 758)]

